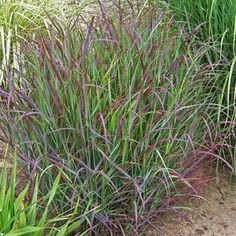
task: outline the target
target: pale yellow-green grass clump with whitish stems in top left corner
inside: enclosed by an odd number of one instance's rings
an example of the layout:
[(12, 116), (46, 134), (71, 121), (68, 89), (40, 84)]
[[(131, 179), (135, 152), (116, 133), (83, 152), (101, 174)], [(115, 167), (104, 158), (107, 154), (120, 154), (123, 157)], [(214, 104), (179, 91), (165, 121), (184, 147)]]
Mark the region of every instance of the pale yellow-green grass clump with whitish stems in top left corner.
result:
[[(51, 1), (50, 1), (51, 3)], [(0, 80), (12, 64), (18, 69), (19, 44), (17, 41), (38, 30), (46, 15), (45, 8), (52, 10), (49, 1), (0, 1)], [(50, 6), (50, 7), (49, 7)]]

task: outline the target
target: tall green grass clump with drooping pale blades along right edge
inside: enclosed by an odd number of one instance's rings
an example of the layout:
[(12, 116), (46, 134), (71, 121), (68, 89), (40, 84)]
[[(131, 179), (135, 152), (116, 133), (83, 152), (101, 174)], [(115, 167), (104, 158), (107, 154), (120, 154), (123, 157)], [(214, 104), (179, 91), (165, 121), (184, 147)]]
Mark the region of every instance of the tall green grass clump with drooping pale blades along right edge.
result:
[(215, 119), (225, 121), (222, 128), (228, 128), (226, 140), (232, 146), (231, 153), (225, 155), (232, 156), (236, 163), (236, 0), (170, 0), (169, 4), (177, 20), (188, 21), (190, 30), (201, 25), (199, 38), (215, 48), (206, 57), (210, 63), (221, 64), (211, 88), (219, 106)]

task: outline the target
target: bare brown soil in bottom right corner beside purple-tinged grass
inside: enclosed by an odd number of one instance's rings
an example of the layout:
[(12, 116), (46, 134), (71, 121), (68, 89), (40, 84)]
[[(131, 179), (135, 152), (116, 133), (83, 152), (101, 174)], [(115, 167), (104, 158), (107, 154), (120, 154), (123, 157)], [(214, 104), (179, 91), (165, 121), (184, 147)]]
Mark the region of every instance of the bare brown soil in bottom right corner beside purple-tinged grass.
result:
[(165, 215), (159, 230), (146, 236), (232, 236), (236, 235), (236, 181), (230, 173), (220, 174), (204, 186), (204, 198), (190, 199), (185, 206), (192, 211)]

